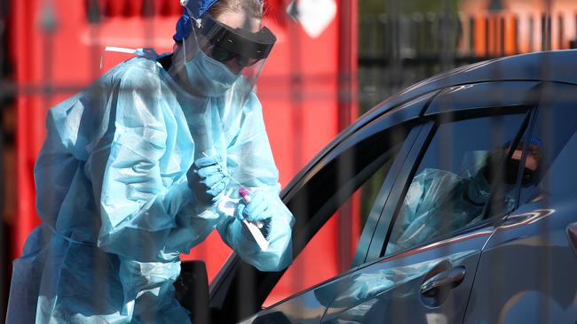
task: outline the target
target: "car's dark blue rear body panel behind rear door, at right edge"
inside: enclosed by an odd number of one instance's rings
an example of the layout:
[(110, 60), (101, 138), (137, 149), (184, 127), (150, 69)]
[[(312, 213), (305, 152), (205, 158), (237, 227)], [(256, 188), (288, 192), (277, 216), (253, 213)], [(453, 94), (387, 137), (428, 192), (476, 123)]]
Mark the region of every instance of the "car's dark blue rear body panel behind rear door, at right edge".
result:
[(466, 323), (577, 319), (577, 86), (546, 83), (541, 93), (518, 210), (483, 249)]

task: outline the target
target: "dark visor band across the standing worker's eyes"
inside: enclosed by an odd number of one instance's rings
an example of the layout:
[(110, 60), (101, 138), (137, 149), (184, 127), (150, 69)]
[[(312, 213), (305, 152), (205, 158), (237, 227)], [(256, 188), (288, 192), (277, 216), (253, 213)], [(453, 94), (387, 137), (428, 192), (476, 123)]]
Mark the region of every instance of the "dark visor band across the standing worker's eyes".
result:
[(267, 28), (250, 33), (242, 28), (231, 28), (205, 15), (202, 19), (201, 34), (209, 42), (211, 56), (218, 62), (236, 59), (239, 66), (252, 66), (268, 57), (276, 37)]

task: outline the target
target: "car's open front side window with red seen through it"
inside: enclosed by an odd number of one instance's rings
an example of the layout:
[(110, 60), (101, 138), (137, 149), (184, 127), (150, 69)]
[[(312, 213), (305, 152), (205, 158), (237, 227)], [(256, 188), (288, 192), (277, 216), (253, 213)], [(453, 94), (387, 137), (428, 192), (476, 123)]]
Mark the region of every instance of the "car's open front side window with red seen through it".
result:
[[(336, 190), (335, 195), (328, 199), (333, 200), (330, 204), (336, 206), (336, 212), (332, 209), (329, 219), (296, 256), (266, 298), (264, 307), (342, 274), (350, 268), (362, 228), (371, 210), (379, 208), (375, 204), (376, 197), (403, 144), (403, 137), (397, 139), (397, 143), (391, 143), (385, 137), (377, 136), (357, 145), (358, 150), (348, 157), (352, 167), (345, 166), (346, 172), (352, 172), (351, 179), (342, 181), (343, 189)], [(327, 174), (333, 174), (330, 169), (335, 167), (338, 166), (326, 166), (328, 169), (320, 172), (320, 179)], [(323, 173), (325, 175), (322, 175)], [(346, 175), (341, 176), (346, 178)], [(346, 189), (350, 183), (356, 183), (353, 191)], [(329, 211), (331, 208), (320, 210)], [(310, 265), (315, 263), (322, 266), (312, 271)]]

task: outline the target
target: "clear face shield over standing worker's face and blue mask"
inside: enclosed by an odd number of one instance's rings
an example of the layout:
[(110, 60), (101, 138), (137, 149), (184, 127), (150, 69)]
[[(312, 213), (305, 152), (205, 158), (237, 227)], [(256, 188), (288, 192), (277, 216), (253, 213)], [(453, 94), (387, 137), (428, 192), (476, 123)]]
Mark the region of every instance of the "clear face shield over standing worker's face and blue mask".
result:
[(191, 92), (248, 95), (276, 42), (273, 33), (248, 12), (226, 12), (218, 19), (206, 13), (190, 23), (193, 32), (182, 46)]

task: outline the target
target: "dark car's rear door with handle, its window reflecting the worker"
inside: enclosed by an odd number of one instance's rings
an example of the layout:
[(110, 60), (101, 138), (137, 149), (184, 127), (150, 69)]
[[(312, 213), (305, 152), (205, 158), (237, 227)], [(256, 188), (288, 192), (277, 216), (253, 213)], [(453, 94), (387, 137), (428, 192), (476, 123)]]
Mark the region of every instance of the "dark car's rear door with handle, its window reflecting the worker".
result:
[[(367, 258), (379, 259), (317, 289), (330, 300), (322, 322), (462, 322), (480, 251), (518, 193), (505, 171), (534, 113), (535, 85), (488, 82), (434, 98), (423, 117), (430, 131), (375, 228)], [(479, 190), (481, 175), (491, 180)]]

